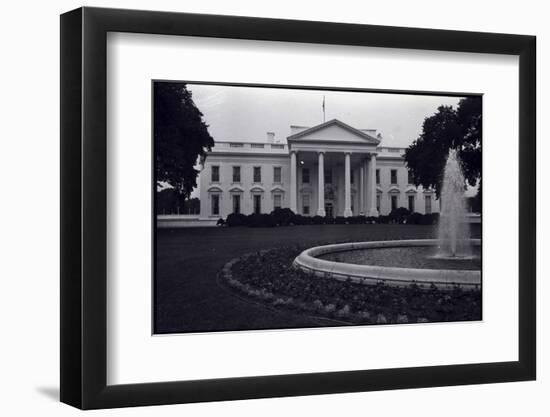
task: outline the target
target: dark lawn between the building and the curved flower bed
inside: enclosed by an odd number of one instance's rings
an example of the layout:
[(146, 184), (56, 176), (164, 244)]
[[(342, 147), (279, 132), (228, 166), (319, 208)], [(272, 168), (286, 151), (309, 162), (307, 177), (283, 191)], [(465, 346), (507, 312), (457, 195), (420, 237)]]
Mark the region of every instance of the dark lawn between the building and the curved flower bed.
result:
[[(231, 259), (284, 246), (349, 240), (431, 238), (434, 226), (319, 225), (276, 228), (158, 229), (155, 332), (318, 327), (328, 318), (272, 308), (241, 296), (218, 275)], [(479, 237), (479, 226), (473, 229)]]

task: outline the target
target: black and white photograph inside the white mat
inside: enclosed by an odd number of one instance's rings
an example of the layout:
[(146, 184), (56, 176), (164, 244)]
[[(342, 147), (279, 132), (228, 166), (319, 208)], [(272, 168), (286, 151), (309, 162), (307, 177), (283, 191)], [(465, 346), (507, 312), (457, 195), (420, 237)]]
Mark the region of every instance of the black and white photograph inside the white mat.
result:
[(482, 320), (482, 102), (153, 80), (153, 333)]

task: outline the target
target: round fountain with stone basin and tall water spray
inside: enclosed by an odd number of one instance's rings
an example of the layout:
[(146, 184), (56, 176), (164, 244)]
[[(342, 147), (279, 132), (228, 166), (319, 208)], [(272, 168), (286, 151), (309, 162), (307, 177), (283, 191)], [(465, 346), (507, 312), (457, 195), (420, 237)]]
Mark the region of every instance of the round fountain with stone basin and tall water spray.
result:
[[(403, 226), (407, 227), (407, 226)], [(481, 240), (470, 238), (465, 181), (456, 150), (443, 171), (438, 239), (352, 242), (303, 251), (294, 266), (313, 276), (393, 286), (480, 288)]]

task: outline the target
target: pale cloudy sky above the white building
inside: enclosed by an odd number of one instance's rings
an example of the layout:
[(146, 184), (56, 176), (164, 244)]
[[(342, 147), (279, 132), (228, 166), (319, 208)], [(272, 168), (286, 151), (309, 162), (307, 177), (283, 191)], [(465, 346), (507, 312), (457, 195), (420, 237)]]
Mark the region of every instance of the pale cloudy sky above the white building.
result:
[(460, 98), (363, 92), (188, 84), (215, 140), (265, 141), (266, 132), (290, 135), (290, 125), (314, 126), (339, 119), (358, 129), (377, 129), (384, 146), (408, 146), (422, 122), (440, 105), (456, 107)]

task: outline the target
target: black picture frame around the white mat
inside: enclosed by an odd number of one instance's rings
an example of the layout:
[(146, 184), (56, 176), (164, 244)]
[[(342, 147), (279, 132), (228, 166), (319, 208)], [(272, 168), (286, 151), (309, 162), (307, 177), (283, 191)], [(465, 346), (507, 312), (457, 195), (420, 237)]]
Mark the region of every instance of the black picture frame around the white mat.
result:
[[(513, 362), (107, 385), (108, 32), (519, 56), (519, 358)], [(80, 8), (61, 16), (61, 401), (82, 409), (533, 380), (534, 36)]]

